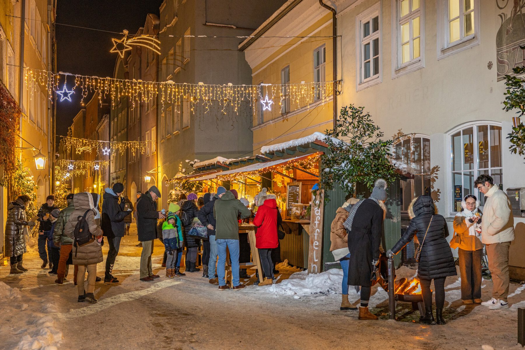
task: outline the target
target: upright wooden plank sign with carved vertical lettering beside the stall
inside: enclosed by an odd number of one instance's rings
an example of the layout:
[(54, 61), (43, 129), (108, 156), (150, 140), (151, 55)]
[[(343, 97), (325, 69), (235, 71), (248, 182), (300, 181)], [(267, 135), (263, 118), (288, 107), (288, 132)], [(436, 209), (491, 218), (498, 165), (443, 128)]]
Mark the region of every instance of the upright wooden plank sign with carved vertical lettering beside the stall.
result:
[(323, 248), (323, 213), (324, 190), (319, 190), (317, 196), (312, 194), (310, 244), (308, 246), (309, 274), (321, 272), (321, 257)]

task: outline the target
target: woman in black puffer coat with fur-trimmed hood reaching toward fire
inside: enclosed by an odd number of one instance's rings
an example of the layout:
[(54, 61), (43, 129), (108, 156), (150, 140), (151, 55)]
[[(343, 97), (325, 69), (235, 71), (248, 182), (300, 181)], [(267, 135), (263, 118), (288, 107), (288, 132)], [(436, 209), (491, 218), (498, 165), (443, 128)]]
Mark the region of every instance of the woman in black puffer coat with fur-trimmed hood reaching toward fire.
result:
[(425, 304), (425, 316), (421, 316), (419, 320), (423, 323), (435, 324), (432, 314), (432, 292), (430, 292), (430, 282), (434, 280), (437, 324), (445, 324), (443, 320), (445, 278), (455, 276), (457, 272), (452, 251), (445, 238), (448, 236), (447, 222), (443, 216), (435, 213), (436, 207), (432, 197), (419, 196), (415, 198), (408, 207), (408, 215), (411, 217), (410, 224), (394, 248), (387, 252), (387, 256), (400, 252), (414, 235), (417, 235), (419, 247), (421, 247), (417, 276), (421, 280)]

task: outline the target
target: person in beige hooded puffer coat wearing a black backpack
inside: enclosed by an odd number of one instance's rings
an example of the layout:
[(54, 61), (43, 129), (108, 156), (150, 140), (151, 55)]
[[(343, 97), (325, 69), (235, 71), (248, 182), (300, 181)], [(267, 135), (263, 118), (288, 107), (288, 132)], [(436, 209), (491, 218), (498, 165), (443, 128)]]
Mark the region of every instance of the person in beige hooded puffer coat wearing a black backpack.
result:
[[(98, 194), (95, 195), (99, 197)], [(78, 265), (78, 302), (96, 303), (98, 301), (93, 292), (97, 278), (97, 264), (103, 260), (100, 246), (102, 229), (95, 221), (96, 203), (93, 197), (93, 194), (89, 192), (75, 194), (73, 198), (75, 210), (69, 216), (64, 228), (73, 241), (73, 263)], [(87, 288), (84, 283), (86, 271), (88, 272)]]

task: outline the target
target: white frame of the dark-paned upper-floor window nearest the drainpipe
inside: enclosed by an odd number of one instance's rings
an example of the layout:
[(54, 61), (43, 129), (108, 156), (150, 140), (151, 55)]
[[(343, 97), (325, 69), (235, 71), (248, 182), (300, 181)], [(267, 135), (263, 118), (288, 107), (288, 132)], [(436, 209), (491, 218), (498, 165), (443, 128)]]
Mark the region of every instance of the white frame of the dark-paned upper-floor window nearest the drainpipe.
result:
[[(378, 22), (378, 29), (374, 33), (371, 33), (370, 35), (367, 35), (366, 37), (362, 37), (363, 35), (363, 24), (366, 22), (371, 22), (373, 18), (377, 17)], [(381, 9), (381, 3), (378, 2), (369, 8), (365, 9), (363, 12), (361, 12), (358, 16), (355, 17), (355, 45), (356, 45), (356, 91), (360, 91), (362, 89), (366, 89), (372, 85), (379, 84), (383, 81), (383, 40), (382, 40), (382, 33), (383, 33), (383, 24), (382, 24), (382, 9)], [(378, 49), (379, 49), (379, 72), (376, 75), (373, 75), (369, 78), (364, 78), (364, 50), (363, 46), (366, 43), (371, 44), (371, 49), (373, 47), (373, 40), (378, 39)], [(373, 59), (371, 55), (371, 60)], [(372, 68), (372, 63), (371, 63)]]

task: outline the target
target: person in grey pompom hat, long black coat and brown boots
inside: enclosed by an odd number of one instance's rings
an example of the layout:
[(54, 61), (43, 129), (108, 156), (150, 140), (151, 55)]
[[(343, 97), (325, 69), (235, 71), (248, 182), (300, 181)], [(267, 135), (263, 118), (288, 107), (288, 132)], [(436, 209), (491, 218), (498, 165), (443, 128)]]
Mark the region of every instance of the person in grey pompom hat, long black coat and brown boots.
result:
[(372, 271), (379, 263), (381, 227), (386, 215), (386, 187), (384, 179), (377, 179), (370, 197), (354, 204), (344, 222), (346, 230), (349, 231), (350, 251), (347, 283), (361, 286), (359, 320), (377, 320), (377, 316), (368, 310), (368, 302), (372, 288)]

